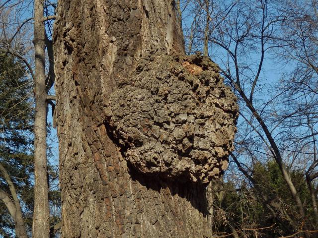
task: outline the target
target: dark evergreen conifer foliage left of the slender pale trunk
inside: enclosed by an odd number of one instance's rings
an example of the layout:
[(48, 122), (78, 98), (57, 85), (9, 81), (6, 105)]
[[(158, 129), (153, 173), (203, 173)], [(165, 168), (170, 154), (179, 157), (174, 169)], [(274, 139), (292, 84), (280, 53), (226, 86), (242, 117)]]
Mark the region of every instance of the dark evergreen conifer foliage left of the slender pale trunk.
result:
[[(0, 164), (10, 175), (23, 204), (25, 218), (33, 211), (33, 108), (31, 87), (23, 63), (0, 50)], [(11, 196), (0, 174), (0, 187)], [(14, 223), (0, 201), (0, 227), (12, 232)], [(30, 219), (28, 225), (31, 225)]]

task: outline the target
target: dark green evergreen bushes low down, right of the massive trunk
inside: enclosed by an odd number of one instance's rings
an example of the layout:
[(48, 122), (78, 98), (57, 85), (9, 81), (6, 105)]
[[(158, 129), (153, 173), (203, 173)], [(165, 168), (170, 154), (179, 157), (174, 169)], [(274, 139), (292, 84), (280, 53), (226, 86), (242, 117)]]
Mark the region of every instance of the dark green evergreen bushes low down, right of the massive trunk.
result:
[[(309, 214), (308, 220), (299, 219), (297, 206), (277, 163), (268, 161), (266, 164), (256, 163), (253, 166), (252, 179), (255, 184), (246, 184), (242, 181), (236, 185), (228, 181), (216, 182), (213, 185), (215, 188), (213, 230), (232, 234), (234, 228), (239, 237), (257, 235), (274, 238), (294, 233), (294, 227), (301, 227), (303, 222), (307, 227), (311, 227), (314, 223), (314, 211), (306, 179), (300, 171), (289, 171), (289, 173), (304, 201)], [(271, 203), (271, 207), (275, 204), (277, 210), (273, 213), (266, 203)], [(289, 218), (291, 221), (288, 221)]]

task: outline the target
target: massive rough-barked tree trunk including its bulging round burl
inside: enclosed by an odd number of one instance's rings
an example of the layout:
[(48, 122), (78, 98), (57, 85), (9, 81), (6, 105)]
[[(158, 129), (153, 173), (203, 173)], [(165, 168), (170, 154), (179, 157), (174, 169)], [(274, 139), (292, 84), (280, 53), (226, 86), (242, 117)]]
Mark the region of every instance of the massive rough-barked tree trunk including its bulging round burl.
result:
[[(215, 64), (183, 57), (174, 10), (171, 0), (59, 1), (63, 237), (212, 237), (204, 183), (226, 167), (237, 106)], [(211, 156), (188, 155), (196, 150)]]

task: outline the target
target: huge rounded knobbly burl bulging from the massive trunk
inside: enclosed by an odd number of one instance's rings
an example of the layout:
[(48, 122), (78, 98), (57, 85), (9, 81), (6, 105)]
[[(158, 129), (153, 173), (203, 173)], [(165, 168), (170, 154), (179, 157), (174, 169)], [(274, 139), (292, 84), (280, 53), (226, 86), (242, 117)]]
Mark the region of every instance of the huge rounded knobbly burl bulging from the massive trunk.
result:
[(110, 96), (107, 123), (137, 171), (208, 183), (228, 167), (237, 99), (207, 57), (143, 60)]

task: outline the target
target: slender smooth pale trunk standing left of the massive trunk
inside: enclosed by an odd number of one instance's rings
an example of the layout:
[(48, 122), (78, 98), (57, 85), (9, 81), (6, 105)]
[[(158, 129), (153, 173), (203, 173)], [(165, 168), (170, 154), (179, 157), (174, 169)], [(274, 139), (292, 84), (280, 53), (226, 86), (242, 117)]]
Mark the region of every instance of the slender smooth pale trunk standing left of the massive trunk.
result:
[(45, 28), (43, 21), (44, 0), (34, 1), (34, 213), (32, 225), (33, 238), (49, 238), (49, 198), (46, 155), (47, 91), (45, 76)]

